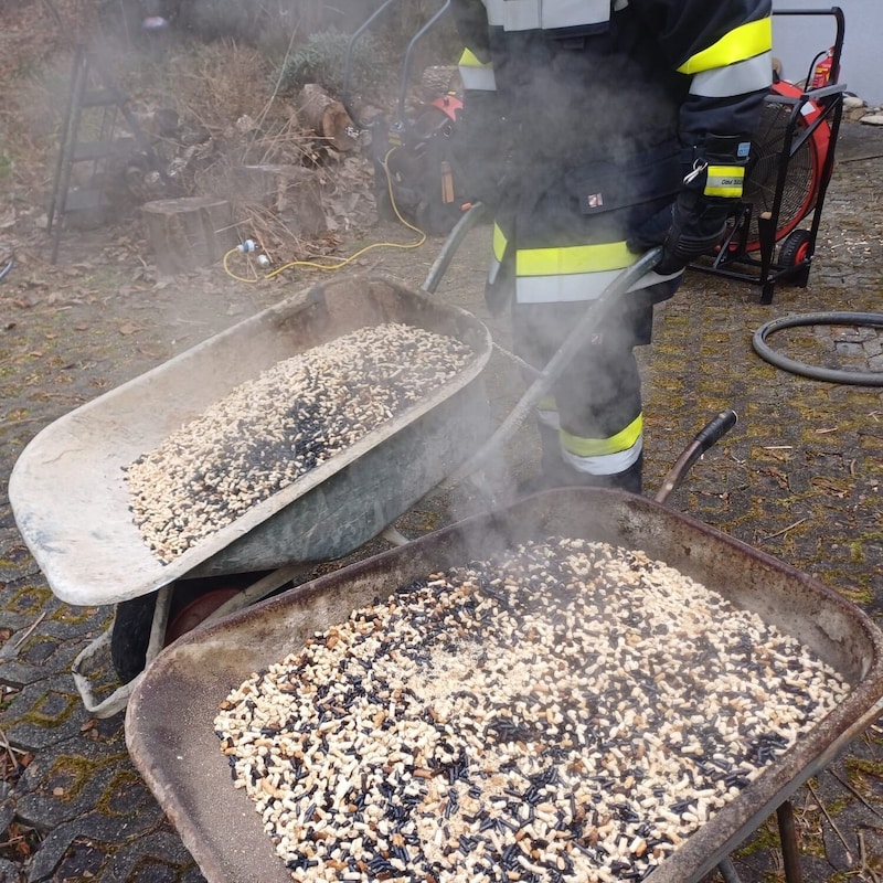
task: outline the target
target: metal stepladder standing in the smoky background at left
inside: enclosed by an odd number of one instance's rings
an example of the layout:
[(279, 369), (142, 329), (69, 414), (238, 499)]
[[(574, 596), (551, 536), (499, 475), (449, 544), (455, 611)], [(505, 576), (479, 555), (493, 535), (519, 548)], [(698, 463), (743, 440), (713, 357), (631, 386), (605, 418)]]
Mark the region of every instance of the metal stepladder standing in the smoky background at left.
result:
[[(128, 129), (128, 141), (117, 138), (120, 118)], [(89, 140), (83, 138), (84, 132)], [(150, 139), (129, 108), (128, 96), (88, 49), (78, 46), (74, 56), (46, 225), (52, 235), (53, 264), (58, 257), (66, 216), (75, 212), (95, 212), (99, 215), (109, 212), (113, 203), (105, 174), (108, 160), (123, 160), (135, 151), (146, 158), (163, 181), (168, 181)], [(91, 163), (91, 168), (85, 175), (86, 183), (73, 187), (73, 172), (77, 163)]]

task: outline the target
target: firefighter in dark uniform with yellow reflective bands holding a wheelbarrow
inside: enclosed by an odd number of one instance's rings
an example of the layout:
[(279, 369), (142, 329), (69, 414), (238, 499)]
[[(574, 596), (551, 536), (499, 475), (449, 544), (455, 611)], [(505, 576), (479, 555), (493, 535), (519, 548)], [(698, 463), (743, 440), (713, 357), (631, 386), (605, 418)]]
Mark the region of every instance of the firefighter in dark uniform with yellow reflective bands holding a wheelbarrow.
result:
[[(528, 489), (641, 490), (634, 348), (653, 305), (720, 244), (772, 81), (769, 0), (454, 0), (466, 51), (462, 159), (496, 211), (486, 287), (542, 368), (586, 305), (653, 245), (541, 402)], [(489, 187), (490, 185), (490, 187)], [(684, 354), (687, 358), (687, 354)]]

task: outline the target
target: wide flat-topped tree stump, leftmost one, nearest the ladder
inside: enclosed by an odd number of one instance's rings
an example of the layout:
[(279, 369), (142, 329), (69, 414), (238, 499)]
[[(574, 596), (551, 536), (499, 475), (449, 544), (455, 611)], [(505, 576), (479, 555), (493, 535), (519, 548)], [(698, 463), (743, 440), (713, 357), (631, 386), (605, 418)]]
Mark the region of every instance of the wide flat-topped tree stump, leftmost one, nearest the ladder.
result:
[(157, 269), (166, 276), (214, 264), (238, 243), (226, 200), (156, 200), (141, 211)]

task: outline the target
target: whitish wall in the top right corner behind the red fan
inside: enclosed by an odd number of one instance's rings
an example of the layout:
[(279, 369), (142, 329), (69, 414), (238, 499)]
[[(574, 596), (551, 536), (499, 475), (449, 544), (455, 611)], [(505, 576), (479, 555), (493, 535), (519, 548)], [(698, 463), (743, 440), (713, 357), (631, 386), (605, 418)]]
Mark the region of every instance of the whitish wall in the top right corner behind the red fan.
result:
[[(811, 0), (773, 0), (773, 10), (843, 10), (845, 38), (840, 82), (847, 91), (874, 106), (883, 104), (883, 3), (881, 0), (839, 0), (821, 6)], [(812, 58), (834, 42), (833, 15), (773, 17), (773, 54), (781, 60), (785, 78), (804, 79)]]

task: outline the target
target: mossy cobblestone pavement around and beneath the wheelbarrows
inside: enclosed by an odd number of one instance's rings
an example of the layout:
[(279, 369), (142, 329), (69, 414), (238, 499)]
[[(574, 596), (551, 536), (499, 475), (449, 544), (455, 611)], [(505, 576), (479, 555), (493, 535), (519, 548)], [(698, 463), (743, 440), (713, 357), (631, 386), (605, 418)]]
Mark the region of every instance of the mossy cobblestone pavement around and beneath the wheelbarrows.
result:
[[(765, 306), (746, 284), (690, 274), (659, 311), (655, 345), (642, 353), (648, 488), (710, 416), (734, 407), (740, 423), (671, 504), (818, 576), (877, 620), (883, 394), (779, 371), (757, 358), (751, 341), (776, 317), (877, 308), (881, 155), (883, 129), (844, 125), (807, 288), (780, 287)], [(392, 253), (371, 268), (416, 287), (439, 245), (433, 240)], [(487, 231), (479, 230), (438, 296), (488, 320), (506, 344), (506, 329), (481, 302), (486, 247)], [(94, 299), (89, 313), (85, 297), (53, 305), (38, 269), (19, 272), (18, 287), (12, 275), (0, 285), (0, 881), (196, 883), (199, 869), (128, 757), (123, 715), (92, 717), (74, 689), (72, 660), (109, 625), (111, 611), (54, 598), (17, 532), (7, 479), (42, 426), (281, 295), (278, 286), (228, 285), (205, 305), (193, 297), (199, 275), (148, 292), (120, 284), (96, 319)], [(842, 360), (876, 370), (883, 351), (875, 330), (837, 327), (780, 332), (770, 343), (811, 364)], [(500, 380), (490, 389), (504, 413), (512, 390), (506, 368), (494, 365)], [(518, 451), (512, 458), (515, 469), (525, 468)], [(450, 517), (445, 504), (430, 498), (401, 529), (443, 523)], [(883, 880), (883, 731), (872, 726), (855, 740), (797, 790), (794, 805), (808, 881)], [(746, 883), (781, 880), (775, 825), (762, 826), (734, 860)]]

